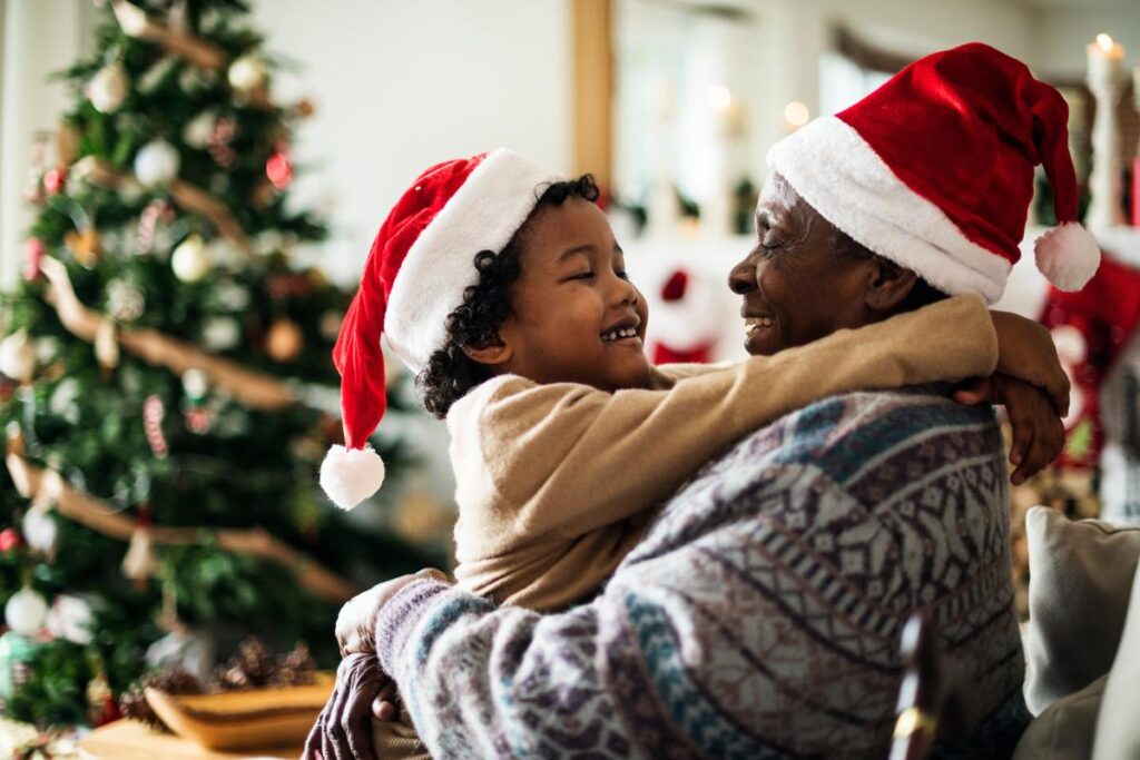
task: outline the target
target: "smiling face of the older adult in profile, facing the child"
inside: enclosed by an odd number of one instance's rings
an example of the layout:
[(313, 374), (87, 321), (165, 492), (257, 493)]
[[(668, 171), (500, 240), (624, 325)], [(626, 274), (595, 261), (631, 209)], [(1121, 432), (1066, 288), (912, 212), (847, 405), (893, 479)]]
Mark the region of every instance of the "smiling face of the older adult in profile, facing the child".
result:
[(883, 319), (913, 286), (913, 272), (846, 251), (856, 246), (776, 173), (764, 185), (756, 228), (756, 247), (728, 275), (743, 296), (752, 356)]

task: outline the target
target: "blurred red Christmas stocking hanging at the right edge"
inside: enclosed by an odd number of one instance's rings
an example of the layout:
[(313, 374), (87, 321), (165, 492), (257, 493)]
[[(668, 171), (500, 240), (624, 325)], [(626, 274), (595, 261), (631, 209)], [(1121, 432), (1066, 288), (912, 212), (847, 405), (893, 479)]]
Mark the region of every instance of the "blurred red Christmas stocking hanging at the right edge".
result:
[(1088, 426), (1089, 446), (1081, 450), (1067, 447), (1059, 461), (1074, 468), (1094, 467), (1104, 444), (1100, 385), (1140, 325), (1140, 271), (1106, 256), (1083, 289), (1067, 293), (1051, 288), (1040, 321), (1054, 332), (1068, 326), (1084, 340), (1077, 350), (1064, 351), (1072, 354), (1068, 362), (1061, 359), (1069, 365), (1066, 370), (1074, 390), (1065, 427), (1077, 431)]

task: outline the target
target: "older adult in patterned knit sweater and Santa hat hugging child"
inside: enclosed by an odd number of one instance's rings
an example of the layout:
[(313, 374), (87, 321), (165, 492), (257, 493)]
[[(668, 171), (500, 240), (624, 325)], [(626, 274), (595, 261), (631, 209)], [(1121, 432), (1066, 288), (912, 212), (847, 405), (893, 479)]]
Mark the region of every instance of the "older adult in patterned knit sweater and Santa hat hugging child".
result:
[[(946, 293), (996, 299), (1033, 163), (1074, 219), (1065, 140), (1056, 91), (966, 46), (777, 145), (757, 245), (730, 276), (749, 351)], [(1039, 265), (1080, 286), (1096, 268), (1083, 231), (1050, 238)], [(972, 391), (1015, 392), (1000, 377)], [(497, 608), (430, 574), (361, 595), (337, 622), (348, 656), (307, 754), (369, 755), (353, 727), (378, 663), (438, 758), (882, 757), (899, 634), (922, 608), (980, 719), (947, 749), (1008, 757), (1028, 716), (1003, 447), (993, 411), (950, 393), (853, 393), (754, 433), (662, 507), (588, 604)]]

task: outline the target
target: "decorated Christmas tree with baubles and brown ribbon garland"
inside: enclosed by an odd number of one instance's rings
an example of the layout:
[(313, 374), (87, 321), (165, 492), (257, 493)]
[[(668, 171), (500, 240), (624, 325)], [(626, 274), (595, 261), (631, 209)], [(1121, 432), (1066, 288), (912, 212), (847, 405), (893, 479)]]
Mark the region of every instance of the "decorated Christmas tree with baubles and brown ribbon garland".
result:
[[(316, 485), (348, 295), (292, 261), (325, 234), (286, 203), (311, 106), (274, 103), (238, 0), (99, 5), (0, 302), (0, 694), (40, 724), (247, 634), (327, 667), (344, 599), (440, 561)], [(375, 446), (391, 480), (406, 449)]]

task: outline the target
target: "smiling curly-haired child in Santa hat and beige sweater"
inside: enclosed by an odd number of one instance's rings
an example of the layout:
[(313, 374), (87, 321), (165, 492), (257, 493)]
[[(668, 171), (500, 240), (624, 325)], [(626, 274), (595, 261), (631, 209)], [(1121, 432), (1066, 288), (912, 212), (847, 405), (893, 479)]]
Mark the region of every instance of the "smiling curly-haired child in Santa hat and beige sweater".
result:
[[(321, 485), (351, 507), (382, 481), (367, 438), (384, 411), (384, 333), (451, 433), (456, 578), (500, 604), (587, 598), (654, 505), (812, 401), (995, 369), (1066, 394), (1048, 334), (974, 296), (732, 367), (654, 369), (645, 301), (596, 197), (588, 177), (506, 150), (433, 166), (381, 228), (334, 351), (347, 447)], [(414, 749), (398, 726), (381, 725), (381, 758)]]

